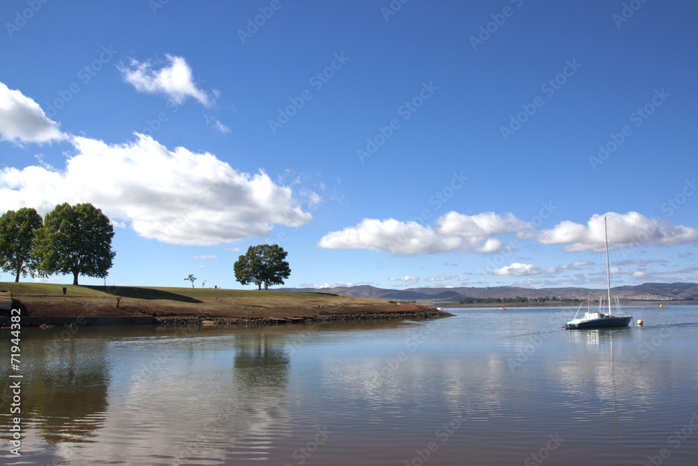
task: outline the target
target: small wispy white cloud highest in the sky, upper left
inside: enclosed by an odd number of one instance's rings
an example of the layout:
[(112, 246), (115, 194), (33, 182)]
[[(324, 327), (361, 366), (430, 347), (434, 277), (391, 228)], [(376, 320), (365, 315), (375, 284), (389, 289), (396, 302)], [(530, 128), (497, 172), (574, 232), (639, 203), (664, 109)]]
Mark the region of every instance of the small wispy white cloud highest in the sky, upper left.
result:
[(170, 101), (177, 104), (183, 103), (188, 97), (193, 97), (206, 107), (213, 105), (214, 101), (209, 95), (196, 86), (191, 68), (184, 57), (175, 57), (170, 54), (166, 54), (165, 57), (169, 61), (169, 66), (160, 69), (154, 68), (150, 61), (140, 62), (131, 59), (128, 66), (119, 66), (119, 71), (124, 76), (124, 80), (133, 85), (138, 92), (165, 94)]

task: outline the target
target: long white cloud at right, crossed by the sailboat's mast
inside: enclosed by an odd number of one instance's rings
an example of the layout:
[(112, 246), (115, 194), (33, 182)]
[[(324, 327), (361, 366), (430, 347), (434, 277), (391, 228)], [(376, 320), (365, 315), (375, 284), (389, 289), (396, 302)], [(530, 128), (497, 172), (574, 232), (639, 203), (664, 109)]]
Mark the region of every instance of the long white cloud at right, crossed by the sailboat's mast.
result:
[(594, 215), (586, 225), (562, 221), (550, 230), (540, 231), (538, 241), (544, 245), (565, 245), (567, 252), (601, 251), (604, 245), (604, 217), (608, 220), (609, 240), (614, 248), (637, 245), (659, 247), (698, 241), (698, 229), (649, 219), (638, 212)]

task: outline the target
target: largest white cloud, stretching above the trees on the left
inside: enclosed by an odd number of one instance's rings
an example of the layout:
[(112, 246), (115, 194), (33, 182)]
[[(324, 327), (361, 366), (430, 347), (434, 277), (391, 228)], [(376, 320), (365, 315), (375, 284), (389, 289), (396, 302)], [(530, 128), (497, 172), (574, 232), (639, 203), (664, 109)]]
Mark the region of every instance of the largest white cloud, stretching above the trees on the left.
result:
[(64, 170), (29, 166), (0, 170), (6, 208), (91, 202), (128, 220), (144, 238), (176, 245), (216, 245), (265, 236), (274, 224), (302, 226), (312, 215), (290, 187), (260, 171), (240, 173), (213, 154), (174, 151), (138, 134), (123, 145), (73, 138), (75, 154)]

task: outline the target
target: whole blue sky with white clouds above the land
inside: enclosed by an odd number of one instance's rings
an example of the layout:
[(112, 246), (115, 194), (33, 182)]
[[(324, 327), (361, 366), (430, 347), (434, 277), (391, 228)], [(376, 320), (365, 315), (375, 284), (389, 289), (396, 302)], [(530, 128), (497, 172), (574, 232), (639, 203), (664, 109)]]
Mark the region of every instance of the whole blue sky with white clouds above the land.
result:
[(588, 286), (604, 215), (620, 283), (698, 281), (695, 2), (8, 0), (0, 20), (0, 211), (100, 207), (107, 284), (239, 288), (237, 256), (276, 243), (285, 286)]

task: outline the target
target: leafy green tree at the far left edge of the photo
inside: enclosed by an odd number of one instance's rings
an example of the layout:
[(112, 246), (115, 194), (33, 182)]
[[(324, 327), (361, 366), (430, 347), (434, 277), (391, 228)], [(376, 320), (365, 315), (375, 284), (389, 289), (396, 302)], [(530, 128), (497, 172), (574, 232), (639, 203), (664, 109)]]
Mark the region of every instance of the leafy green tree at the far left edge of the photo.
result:
[(31, 255), (34, 232), (43, 220), (34, 208), (8, 210), (0, 217), (0, 268), (15, 273), (15, 282), (22, 277), (45, 275), (38, 270), (38, 261)]

